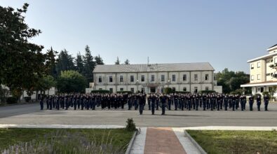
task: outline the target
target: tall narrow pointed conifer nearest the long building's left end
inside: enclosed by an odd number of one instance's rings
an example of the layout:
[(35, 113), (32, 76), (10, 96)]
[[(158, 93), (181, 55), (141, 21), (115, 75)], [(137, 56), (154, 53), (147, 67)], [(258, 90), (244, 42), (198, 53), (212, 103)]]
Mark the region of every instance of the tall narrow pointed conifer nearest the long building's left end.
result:
[(93, 69), (95, 68), (95, 62), (93, 61), (93, 55), (91, 55), (90, 48), (86, 45), (86, 54), (83, 56), (83, 76), (85, 76), (88, 83), (93, 81)]

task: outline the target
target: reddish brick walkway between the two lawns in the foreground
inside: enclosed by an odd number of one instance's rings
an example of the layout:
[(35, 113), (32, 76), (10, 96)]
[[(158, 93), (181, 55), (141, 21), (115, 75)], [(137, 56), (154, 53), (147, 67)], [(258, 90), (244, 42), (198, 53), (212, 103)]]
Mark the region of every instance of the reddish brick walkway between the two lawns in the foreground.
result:
[(144, 154), (186, 154), (171, 128), (147, 128)]

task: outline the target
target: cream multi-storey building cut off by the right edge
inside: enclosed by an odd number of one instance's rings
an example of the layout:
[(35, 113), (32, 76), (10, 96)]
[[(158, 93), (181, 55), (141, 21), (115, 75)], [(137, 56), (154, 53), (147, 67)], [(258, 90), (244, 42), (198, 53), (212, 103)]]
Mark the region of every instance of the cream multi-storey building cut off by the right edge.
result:
[(250, 83), (241, 87), (252, 87), (252, 94), (270, 92), (277, 85), (277, 71), (272, 64), (277, 64), (277, 44), (267, 49), (268, 54), (248, 60), (250, 65)]

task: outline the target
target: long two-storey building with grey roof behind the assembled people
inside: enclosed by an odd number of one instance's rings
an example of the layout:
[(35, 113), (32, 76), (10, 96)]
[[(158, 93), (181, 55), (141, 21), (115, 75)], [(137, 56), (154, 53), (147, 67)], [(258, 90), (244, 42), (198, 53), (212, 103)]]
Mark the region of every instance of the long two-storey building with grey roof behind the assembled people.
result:
[(92, 89), (146, 93), (163, 92), (165, 87), (186, 92), (220, 90), (214, 71), (208, 62), (97, 65)]

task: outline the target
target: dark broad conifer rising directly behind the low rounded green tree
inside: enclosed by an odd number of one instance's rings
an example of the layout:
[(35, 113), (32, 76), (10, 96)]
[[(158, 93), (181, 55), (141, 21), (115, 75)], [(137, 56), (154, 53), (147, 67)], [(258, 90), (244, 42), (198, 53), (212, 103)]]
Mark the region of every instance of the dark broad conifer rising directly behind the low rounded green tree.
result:
[(73, 62), (73, 57), (72, 55), (68, 54), (66, 49), (60, 51), (60, 54), (58, 55), (57, 69), (59, 75), (61, 71), (76, 69)]

